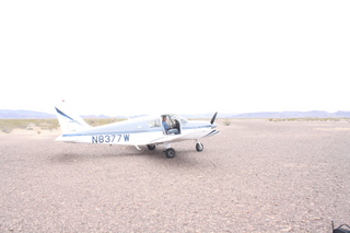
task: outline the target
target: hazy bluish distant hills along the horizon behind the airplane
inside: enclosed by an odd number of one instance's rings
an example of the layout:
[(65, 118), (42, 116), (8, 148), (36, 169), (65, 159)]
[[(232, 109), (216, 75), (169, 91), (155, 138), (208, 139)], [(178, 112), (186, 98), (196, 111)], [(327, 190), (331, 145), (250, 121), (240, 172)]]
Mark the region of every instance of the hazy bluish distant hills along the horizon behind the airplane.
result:
[[(211, 118), (210, 114), (180, 114), (186, 118)], [(82, 118), (125, 118), (122, 116), (106, 116), (106, 115), (82, 115)], [(133, 116), (136, 117), (136, 116)], [(130, 118), (133, 118), (130, 117)], [(328, 113), (325, 110), (310, 112), (260, 112), (260, 113), (244, 113), (244, 114), (218, 114), (218, 118), (350, 118), (350, 112)], [(0, 119), (51, 119), (56, 118), (55, 114), (35, 112), (35, 110), (11, 110), (0, 109)]]

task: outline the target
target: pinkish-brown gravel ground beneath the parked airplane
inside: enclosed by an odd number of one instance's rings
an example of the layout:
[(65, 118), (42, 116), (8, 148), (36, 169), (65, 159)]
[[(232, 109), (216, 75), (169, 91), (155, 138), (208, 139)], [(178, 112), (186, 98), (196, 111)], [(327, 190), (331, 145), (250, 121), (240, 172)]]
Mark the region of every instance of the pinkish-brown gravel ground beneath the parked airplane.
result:
[(0, 232), (331, 232), (350, 223), (350, 124), (232, 120), (162, 148), (0, 135)]

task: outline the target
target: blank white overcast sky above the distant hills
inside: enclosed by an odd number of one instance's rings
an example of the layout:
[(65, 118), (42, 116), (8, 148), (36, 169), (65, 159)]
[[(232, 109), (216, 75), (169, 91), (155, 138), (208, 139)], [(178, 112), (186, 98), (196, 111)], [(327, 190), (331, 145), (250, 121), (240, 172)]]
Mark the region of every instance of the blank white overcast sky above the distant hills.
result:
[(350, 110), (350, 1), (1, 1), (0, 109)]

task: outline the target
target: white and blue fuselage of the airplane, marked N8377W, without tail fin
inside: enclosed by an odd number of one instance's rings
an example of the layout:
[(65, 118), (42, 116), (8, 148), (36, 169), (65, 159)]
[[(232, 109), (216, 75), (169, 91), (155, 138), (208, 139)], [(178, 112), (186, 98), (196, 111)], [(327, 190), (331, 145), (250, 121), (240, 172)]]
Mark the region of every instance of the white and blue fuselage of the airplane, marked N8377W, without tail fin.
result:
[[(172, 115), (175, 116), (175, 115)], [(165, 141), (196, 140), (206, 136), (218, 133), (213, 130), (215, 126), (207, 121), (194, 121), (182, 119), (180, 133), (166, 135), (164, 128), (159, 124), (152, 127), (148, 124), (158, 120), (156, 117), (142, 117), (137, 120), (114, 123), (107, 126), (94, 127), (88, 130), (63, 133), (57, 141), (96, 143), (96, 144), (129, 144), (145, 145), (159, 144)]]

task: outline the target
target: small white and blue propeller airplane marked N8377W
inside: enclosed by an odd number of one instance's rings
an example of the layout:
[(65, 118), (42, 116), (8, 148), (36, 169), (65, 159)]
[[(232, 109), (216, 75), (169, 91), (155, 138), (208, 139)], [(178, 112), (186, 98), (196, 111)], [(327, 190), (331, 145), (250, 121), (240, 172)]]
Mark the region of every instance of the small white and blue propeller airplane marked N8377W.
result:
[(158, 144), (163, 144), (165, 155), (170, 159), (175, 156), (172, 142), (195, 140), (196, 150), (200, 152), (205, 148), (199, 139), (220, 133), (214, 129), (218, 113), (209, 123), (187, 120), (176, 114), (160, 114), (92, 127), (79, 115), (55, 108), (63, 133), (56, 141), (126, 144), (135, 145), (138, 150), (141, 150), (139, 145), (147, 145), (149, 150), (154, 150)]

